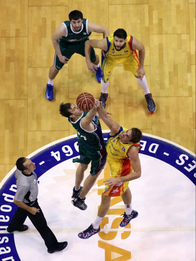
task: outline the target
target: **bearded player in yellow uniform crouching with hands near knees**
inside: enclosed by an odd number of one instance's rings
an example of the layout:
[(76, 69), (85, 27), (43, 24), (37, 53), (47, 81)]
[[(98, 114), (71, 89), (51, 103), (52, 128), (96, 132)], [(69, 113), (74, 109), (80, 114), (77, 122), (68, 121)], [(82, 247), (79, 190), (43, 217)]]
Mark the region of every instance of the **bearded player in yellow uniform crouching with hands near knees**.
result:
[[(102, 51), (102, 72), (101, 79), (101, 97), (103, 107), (106, 107), (106, 100), (108, 98), (107, 88), (109, 86), (109, 79), (111, 77), (114, 66), (122, 63), (125, 70), (134, 74), (139, 85), (142, 87), (145, 99), (147, 101), (147, 109), (153, 113), (156, 110), (152, 94), (149, 91), (148, 84), (145, 77), (144, 57), (145, 47), (136, 38), (127, 35), (122, 28), (117, 29), (113, 34), (102, 40), (88, 40), (85, 42), (85, 56), (87, 67), (91, 72), (96, 72), (96, 68), (90, 61), (91, 48), (99, 48)], [(137, 51), (139, 51), (139, 57)]]

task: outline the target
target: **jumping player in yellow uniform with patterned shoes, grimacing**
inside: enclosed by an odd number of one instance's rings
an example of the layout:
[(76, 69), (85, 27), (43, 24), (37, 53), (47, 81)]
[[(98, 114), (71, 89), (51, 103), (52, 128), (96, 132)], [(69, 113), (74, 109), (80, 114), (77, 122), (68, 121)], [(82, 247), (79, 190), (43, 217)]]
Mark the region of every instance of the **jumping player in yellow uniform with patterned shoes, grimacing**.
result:
[(129, 181), (141, 176), (139, 159), (140, 140), (142, 132), (137, 128), (126, 129), (113, 121), (103, 106), (97, 110), (99, 117), (110, 128), (106, 145), (107, 161), (110, 166), (111, 178), (103, 181), (106, 187), (101, 195), (101, 205), (95, 221), (84, 231), (78, 234), (79, 238), (87, 239), (100, 231), (100, 223), (109, 210), (111, 197), (121, 196), (125, 204), (125, 212), (120, 227), (125, 227), (138, 216), (137, 211), (132, 209), (131, 191)]

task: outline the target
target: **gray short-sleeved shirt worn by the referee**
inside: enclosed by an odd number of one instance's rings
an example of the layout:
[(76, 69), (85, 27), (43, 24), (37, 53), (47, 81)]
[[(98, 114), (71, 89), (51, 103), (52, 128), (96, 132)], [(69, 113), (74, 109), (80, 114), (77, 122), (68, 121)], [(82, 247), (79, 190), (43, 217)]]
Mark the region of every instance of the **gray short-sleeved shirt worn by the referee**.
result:
[(15, 200), (23, 201), (24, 203), (35, 201), (38, 195), (37, 176), (35, 172), (32, 170), (30, 175), (26, 175), (16, 169), (16, 187)]

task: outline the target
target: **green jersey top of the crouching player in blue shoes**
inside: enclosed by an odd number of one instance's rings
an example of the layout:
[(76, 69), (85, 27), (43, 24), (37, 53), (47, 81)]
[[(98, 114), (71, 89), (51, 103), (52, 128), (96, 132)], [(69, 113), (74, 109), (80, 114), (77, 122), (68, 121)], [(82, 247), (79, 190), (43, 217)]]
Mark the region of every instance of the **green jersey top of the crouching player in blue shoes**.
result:
[(88, 38), (89, 35), (91, 35), (91, 32), (90, 33), (88, 32), (88, 26), (87, 26), (88, 25), (88, 19), (83, 18), (82, 27), (81, 27), (79, 32), (73, 31), (70, 21), (65, 21), (65, 22), (63, 22), (63, 24), (66, 28), (67, 34), (66, 34), (66, 36), (62, 36), (59, 39), (59, 42), (61, 42), (61, 43), (63, 43), (63, 42), (69, 42), (69, 43), (79, 42), (79, 41), (84, 40), (85, 38)]

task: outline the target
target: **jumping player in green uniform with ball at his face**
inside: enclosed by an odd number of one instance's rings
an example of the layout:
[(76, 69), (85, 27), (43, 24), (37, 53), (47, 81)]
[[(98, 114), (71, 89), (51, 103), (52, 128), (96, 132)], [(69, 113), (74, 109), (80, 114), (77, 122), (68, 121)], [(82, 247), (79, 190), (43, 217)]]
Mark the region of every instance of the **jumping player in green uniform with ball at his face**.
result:
[[(73, 162), (80, 164), (76, 170), (73, 200), (71, 202), (81, 210), (87, 209), (87, 205), (84, 203), (85, 197), (106, 163), (106, 142), (103, 139), (99, 118), (96, 115), (99, 104), (100, 102), (95, 100), (94, 107), (90, 111), (82, 111), (73, 103), (61, 103), (59, 107), (60, 114), (67, 117), (68, 121), (77, 130), (80, 158), (73, 159)], [(87, 170), (90, 162), (90, 175), (85, 179), (84, 185), (81, 187), (84, 171)]]

